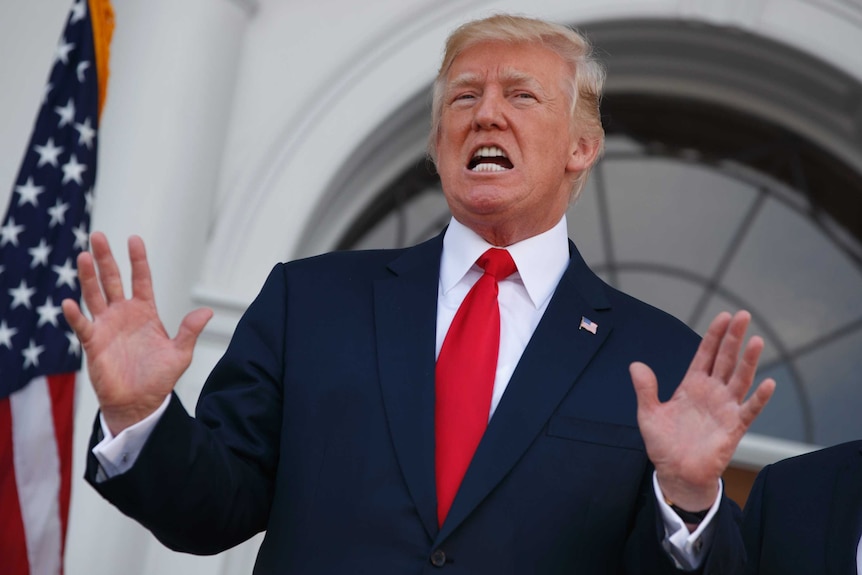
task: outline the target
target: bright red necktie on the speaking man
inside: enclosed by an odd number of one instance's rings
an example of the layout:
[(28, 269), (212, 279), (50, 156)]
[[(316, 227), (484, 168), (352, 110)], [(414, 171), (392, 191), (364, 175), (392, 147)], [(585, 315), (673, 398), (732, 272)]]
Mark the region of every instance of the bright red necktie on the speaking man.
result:
[(488, 425), (500, 350), (497, 282), (516, 270), (509, 252), (496, 248), (476, 264), (485, 273), (458, 308), (437, 358), (434, 428), (440, 525)]

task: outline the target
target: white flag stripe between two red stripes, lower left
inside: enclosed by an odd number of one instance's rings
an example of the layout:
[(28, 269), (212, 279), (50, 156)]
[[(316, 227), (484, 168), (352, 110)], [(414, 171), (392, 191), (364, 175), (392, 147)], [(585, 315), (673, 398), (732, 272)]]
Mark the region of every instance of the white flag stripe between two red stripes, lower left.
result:
[(62, 531), (60, 458), (54, 446), (54, 418), (48, 380), (37, 377), (10, 396), (15, 483), (27, 541), (30, 575), (60, 572)]

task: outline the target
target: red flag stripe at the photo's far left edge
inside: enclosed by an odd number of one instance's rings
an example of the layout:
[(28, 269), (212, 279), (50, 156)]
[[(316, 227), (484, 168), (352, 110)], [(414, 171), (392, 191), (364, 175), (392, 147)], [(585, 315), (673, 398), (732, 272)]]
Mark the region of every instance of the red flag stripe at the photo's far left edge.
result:
[(6, 398), (0, 400), (0, 557), (8, 573), (28, 573), (30, 565), (12, 466), (13, 457), (12, 407), (9, 398)]

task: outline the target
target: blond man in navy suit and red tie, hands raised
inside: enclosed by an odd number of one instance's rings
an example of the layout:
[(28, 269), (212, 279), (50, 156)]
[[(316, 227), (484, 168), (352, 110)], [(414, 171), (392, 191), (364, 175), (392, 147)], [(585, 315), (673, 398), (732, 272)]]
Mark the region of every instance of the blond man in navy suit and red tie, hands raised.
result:
[(448, 229), (277, 265), (196, 418), (171, 392), (211, 312), (171, 340), (143, 243), (127, 300), (94, 234), (93, 320), (64, 303), (101, 407), (88, 479), (174, 549), (266, 530), (261, 574), (741, 571), (720, 476), (774, 389), (745, 400), (763, 342), (738, 361), (740, 312), (698, 346), (566, 238), (602, 148), (602, 80), (567, 28), (456, 30), (430, 145)]

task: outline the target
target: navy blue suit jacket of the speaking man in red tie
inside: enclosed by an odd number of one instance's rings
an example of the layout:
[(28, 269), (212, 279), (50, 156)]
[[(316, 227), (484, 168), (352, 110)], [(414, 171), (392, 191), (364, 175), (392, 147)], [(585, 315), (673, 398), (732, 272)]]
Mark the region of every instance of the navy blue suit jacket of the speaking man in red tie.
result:
[[(196, 418), (174, 398), (129, 472), (95, 483), (91, 458), (88, 478), (173, 549), (266, 530), (257, 574), (676, 573), (628, 366), (649, 364), (667, 399), (699, 339), (604, 284), (574, 245), (438, 527), (441, 250), (438, 236), (277, 265)], [(739, 516), (723, 501), (705, 572), (741, 571)]]

